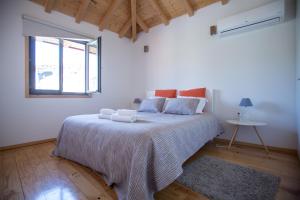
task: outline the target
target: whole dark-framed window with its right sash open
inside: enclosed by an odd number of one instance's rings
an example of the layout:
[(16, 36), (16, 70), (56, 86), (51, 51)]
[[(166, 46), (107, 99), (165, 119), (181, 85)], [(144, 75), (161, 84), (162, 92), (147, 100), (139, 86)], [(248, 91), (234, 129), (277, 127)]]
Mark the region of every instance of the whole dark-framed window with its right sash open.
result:
[(29, 94), (101, 92), (101, 38), (29, 37)]

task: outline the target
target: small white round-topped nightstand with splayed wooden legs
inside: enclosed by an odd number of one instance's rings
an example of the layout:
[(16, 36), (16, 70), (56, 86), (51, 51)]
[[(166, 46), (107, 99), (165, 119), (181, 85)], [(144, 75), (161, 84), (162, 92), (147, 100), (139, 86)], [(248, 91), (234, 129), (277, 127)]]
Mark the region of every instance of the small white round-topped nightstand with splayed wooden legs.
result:
[(240, 120), (226, 120), (226, 122), (228, 124), (232, 124), (235, 126), (230, 143), (228, 145), (228, 150), (230, 150), (231, 145), (234, 143), (236, 136), (238, 134), (239, 128), (241, 126), (250, 126), (253, 127), (254, 132), (256, 133), (258, 139), (260, 140), (261, 144), (264, 146), (265, 150), (267, 153), (269, 153), (268, 147), (264, 144), (264, 141), (262, 140), (262, 138), (260, 137), (258, 130), (257, 130), (257, 126), (266, 126), (267, 123), (264, 122), (254, 122), (254, 121), (240, 121)]

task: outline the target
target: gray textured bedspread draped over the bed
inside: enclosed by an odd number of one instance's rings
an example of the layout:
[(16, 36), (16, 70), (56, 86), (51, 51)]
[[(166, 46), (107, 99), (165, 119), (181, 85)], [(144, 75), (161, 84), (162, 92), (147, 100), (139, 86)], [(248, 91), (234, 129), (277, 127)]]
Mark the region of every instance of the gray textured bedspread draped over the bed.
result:
[(121, 200), (153, 199), (182, 173), (182, 164), (221, 133), (212, 114), (139, 113), (137, 123), (78, 115), (65, 119), (54, 155), (100, 172)]

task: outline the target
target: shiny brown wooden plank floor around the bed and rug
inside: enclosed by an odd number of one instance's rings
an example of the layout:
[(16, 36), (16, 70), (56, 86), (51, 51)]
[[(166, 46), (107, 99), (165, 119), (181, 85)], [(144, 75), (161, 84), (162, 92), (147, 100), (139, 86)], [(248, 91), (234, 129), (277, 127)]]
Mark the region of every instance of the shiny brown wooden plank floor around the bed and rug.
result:
[[(0, 200), (117, 199), (112, 188), (92, 170), (52, 157), (54, 143), (0, 151)], [(210, 155), (281, 177), (276, 199), (300, 199), (300, 163), (296, 156), (235, 147), (232, 151), (207, 144), (193, 159)], [(263, 186), (262, 186), (263, 187)], [(298, 198), (297, 198), (298, 197)], [(178, 183), (155, 194), (155, 199), (207, 199)]]

